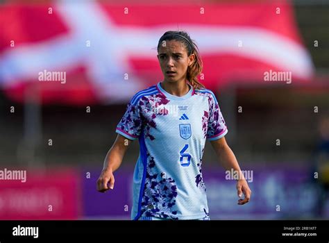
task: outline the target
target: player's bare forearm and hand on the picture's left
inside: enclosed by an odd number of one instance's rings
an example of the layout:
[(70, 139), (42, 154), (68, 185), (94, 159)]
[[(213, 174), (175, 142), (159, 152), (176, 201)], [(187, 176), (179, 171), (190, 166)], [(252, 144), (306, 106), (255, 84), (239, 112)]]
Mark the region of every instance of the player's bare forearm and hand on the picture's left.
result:
[[(128, 146), (131, 144), (131, 140), (126, 139), (122, 135), (117, 135), (117, 139), (108, 151), (103, 164), (103, 170), (97, 180), (97, 190), (99, 192), (106, 192), (109, 189), (113, 189), (115, 185), (115, 176), (113, 172), (116, 171), (126, 153)], [(108, 186), (110, 184), (110, 186)]]

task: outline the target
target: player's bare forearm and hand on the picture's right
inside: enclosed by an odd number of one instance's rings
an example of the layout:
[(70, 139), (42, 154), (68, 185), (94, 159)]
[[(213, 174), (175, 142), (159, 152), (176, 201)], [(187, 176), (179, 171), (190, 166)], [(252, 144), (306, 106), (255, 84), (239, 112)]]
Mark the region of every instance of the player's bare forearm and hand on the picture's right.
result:
[(230, 149), (226, 143), (225, 137), (221, 137), (219, 140), (210, 141), (210, 143), (212, 144), (212, 148), (217, 154), (221, 165), (226, 170), (233, 169), (239, 173), (239, 179), (237, 180), (237, 195), (241, 197), (243, 192), (244, 199), (239, 199), (238, 204), (243, 205), (244, 203), (248, 203), (251, 196), (251, 190), (248, 187), (248, 183), (246, 182), (244, 175), (242, 174), (237, 158), (235, 158), (232, 149)]

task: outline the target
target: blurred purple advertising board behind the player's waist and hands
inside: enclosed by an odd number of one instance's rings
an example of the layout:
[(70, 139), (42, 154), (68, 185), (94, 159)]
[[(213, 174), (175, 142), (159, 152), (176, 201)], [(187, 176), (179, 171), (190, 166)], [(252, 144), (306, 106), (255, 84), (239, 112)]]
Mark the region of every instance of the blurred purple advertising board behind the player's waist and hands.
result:
[[(85, 178), (90, 171), (90, 178)], [(234, 178), (221, 167), (204, 167), (211, 219), (309, 219), (318, 206), (319, 185), (312, 171), (305, 167), (271, 165), (244, 170), (252, 190), (251, 201), (237, 205)], [(89, 219), (130, 219), (133, 167), (115, 172), (115, 189), (101, 194), (96, 191), (100, 170), (83, 169), (83, 217)], [(328, 204), (328, 203), (327, 203)], [(328, 217), (328, 205), (323, 205)]]

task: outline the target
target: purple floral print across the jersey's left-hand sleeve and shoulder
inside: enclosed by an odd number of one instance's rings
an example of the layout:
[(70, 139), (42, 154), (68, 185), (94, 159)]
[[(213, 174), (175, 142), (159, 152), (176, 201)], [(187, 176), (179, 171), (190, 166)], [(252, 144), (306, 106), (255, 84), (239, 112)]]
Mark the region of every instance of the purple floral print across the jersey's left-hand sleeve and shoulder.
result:
[(141, 97), (137, 103), (129, 103), (124, 117), (118, 127), (131, 135), (138, 137), (144, 129), (145, 138), (155, 140), (151, 130), (156, 129), (155, 118), (158, 115), (167, 115), (168, 112), (156, 112), (158, 107), (163, 107), (169, 100), (161, 93)]

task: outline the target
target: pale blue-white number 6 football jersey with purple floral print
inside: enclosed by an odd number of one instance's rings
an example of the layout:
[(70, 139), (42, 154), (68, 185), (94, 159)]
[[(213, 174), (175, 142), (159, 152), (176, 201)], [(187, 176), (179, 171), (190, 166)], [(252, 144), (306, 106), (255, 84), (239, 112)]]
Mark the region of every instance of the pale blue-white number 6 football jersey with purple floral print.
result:
[(160, 83), (137, 92), (117, 125), (117, 133), (140, 142), (132, 219), (209, 215), (201, 171), (205, 140), (217, 140), (228, 130), (214, 94), (189, 86), (183, 97)]

